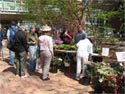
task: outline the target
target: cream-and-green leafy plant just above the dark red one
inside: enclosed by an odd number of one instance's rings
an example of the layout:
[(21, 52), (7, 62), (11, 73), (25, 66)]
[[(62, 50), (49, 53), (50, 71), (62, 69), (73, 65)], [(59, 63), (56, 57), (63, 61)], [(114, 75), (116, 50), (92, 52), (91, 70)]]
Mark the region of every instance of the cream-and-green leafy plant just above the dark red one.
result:
[(116, 70), (114, 70), (109, 63), (99, 62), (94, 65), (89, 65), (89, 69), (87, 72), (91, 77), (97, 77), (99, 82), (105, 80), (108, 76), (116, 76), (118, 75)]

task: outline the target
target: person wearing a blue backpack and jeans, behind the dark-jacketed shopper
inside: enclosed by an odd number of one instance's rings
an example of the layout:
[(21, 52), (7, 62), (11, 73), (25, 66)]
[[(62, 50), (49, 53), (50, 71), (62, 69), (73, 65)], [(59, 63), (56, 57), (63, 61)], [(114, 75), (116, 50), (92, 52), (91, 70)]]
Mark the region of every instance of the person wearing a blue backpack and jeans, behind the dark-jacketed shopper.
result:
[[(14, 41), (14, 34), (15, 32), (18, 31), (18, 28), (16, 26), (16, 22), (15, 21), (11, 21), (11, 26), (9, 27), (9, 29), (7, 30), (7, 40), (9, 41)], [(9, 50), (9, 57), (10, 57), (10, 65), (14, 65), (14, 52)]]

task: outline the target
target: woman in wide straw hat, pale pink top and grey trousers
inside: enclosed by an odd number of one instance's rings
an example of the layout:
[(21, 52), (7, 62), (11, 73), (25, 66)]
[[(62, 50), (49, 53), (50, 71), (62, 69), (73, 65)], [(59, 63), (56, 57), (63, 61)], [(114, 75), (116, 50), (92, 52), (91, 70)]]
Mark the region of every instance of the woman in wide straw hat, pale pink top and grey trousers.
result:
[(53, 39), (50, 36), (51, 27), (43, 26), (41, 29), (42, 35), (39, 37), (39, 46), (40, 46), (40, 59), (42, 62), (42, 80), (50, 80), (49, 68), (50, 62), (53, 57)]

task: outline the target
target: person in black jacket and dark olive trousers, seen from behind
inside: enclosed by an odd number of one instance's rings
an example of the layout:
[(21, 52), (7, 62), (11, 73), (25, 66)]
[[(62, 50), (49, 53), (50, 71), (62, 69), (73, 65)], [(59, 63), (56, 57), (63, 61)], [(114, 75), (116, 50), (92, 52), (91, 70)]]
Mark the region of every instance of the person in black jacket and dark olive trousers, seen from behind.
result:
[(19, 32), (14, 35), (15, 39), (15, 64), (16, 64), (16, 76), (22, 78), (27, 77), (26, 70), (26, 57), (28, 53), (28, 44), (26, 39), (25, 27), (20, 26)]

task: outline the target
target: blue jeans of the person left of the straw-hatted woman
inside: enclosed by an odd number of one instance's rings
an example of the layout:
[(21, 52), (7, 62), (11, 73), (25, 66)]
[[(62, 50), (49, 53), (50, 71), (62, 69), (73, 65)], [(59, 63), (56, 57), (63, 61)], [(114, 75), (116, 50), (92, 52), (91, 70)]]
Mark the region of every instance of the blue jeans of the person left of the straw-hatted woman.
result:
[(30, 53), (29, 70), (30, 71), (34, 71), (36, 67), (36, 51), (37, 51), (37, 46), (29, 46), (29, 53)]

